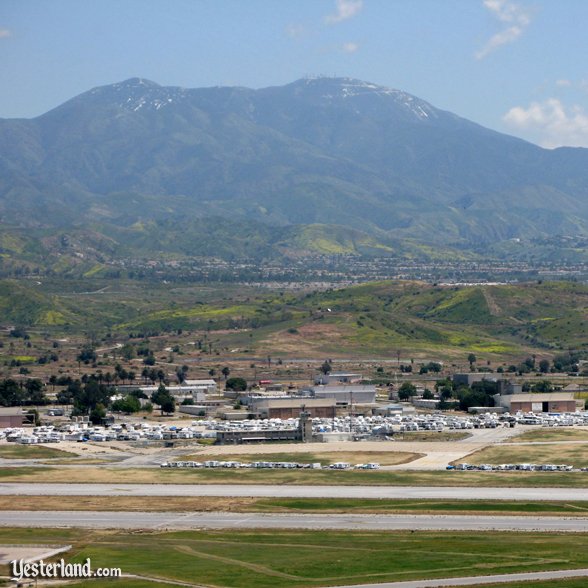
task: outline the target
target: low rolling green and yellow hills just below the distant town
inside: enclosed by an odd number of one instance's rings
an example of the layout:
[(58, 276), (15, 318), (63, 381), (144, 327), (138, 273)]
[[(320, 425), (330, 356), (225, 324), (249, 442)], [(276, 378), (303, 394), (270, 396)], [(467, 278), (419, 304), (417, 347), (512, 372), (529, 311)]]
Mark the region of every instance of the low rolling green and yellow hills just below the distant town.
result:
[(294, 294), (132, 281), (3, 281), (0, 310), (5, 324), (55, 331), (196, 331), (240, 353), (497, 358), (588, 347), (588, 287), (566, 282), (387, 281)]

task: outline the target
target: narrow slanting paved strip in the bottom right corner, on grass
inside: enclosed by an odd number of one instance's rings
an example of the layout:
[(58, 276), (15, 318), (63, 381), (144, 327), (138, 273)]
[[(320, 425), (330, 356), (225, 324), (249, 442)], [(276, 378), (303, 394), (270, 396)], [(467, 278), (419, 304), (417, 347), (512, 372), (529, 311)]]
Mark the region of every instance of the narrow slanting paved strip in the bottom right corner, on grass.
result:
[(497, 574), (495, 576), (474, 576), (471, 578), (445, 578), (439, 580), (412, 580), (408, 582), (385, 582), (383, 584), (355, 584), (337, 588), (442, 588), (445, 586), (479, 586), (480, 584), (503, 584), (529, 582), (533, 580), (562, 580), (584, 578), (588, 569), (556, 570), (553, 572), (525, 572), (521, 574)]

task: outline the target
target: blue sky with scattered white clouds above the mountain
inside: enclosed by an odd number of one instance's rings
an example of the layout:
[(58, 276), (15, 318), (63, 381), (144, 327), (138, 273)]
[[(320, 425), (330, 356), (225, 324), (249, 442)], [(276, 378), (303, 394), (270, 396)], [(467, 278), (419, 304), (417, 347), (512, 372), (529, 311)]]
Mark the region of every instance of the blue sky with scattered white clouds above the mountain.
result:
[(587, 0), (0, 0), (0, 117), (92, 87), (398, 88), (546, 147), (588, 146)]

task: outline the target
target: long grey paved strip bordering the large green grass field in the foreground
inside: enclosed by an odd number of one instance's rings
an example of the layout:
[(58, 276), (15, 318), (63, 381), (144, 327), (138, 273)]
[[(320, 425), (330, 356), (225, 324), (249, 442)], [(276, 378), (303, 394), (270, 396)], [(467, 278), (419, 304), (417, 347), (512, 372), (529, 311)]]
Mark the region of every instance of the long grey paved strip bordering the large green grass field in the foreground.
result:
[(90, 527), (117, 529), (341, 529), (588, 532), (587, 518), (463, 515), (352, 515), (4, 511), (5, 527)]

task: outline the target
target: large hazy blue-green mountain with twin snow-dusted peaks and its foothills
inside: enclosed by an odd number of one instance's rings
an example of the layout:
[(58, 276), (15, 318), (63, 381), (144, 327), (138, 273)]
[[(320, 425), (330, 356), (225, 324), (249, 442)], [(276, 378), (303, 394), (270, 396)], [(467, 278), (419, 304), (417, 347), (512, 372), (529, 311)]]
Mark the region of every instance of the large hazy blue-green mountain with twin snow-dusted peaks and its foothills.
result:
[(480, 250), (588, 235), (588, 150), (542, 149), (350, 78), (259, 90), (133, 78), (0, 119), (0, 223), (91, 230), (114, 251), (162, 227), (160, 247), (183, 253), (243, 230), (257, 244), (237, 240), (246, 255), (328, 252), (325, 239)]

